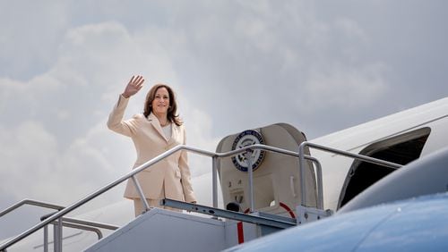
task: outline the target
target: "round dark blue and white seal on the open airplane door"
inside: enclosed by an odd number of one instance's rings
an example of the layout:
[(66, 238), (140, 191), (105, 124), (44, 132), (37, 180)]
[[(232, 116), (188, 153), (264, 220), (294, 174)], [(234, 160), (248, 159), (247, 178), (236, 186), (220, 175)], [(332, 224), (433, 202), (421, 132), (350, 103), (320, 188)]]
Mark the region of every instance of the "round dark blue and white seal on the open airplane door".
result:
[[(233, 142), (232, 150), (252, 146), (256, 144), (264, 144), (264, 140), (262, 134), (256, 130), (245, 130), (237, 135), (237, 138)], [(254, 149), (251, 157), (252, 157), (252, 170), (256, 170), (260, 164), (263, 162), (265, 152), (261, 149)], [(240, 153), (238, 155), (232, 156), (232, 163), (237, 167), (237, 169), (241, 172), (247, 172), (247, 163), (245, 153)]]

